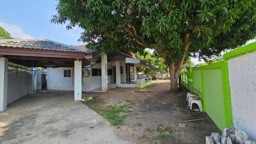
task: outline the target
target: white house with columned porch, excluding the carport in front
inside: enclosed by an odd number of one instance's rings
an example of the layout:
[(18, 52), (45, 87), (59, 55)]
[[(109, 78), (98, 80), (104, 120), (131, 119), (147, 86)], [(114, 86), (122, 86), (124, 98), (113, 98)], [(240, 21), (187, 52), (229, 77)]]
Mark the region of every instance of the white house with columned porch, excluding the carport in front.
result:
[[(83, 92), (106, 92), (108, 88), (134, 88), (152, 83), (151, 76), (138, 75), (138, 70), (145, 66), (156, 66), (135, 58), (131, 52), (119, 51), (106, 55), (86, 49), (85, 45), (78, 48), (86, 52), (84, 58), (90, 61), (83, 63)], [(47, 89), (74, 90), (73, 73), (72, 67), (47, 68)]]

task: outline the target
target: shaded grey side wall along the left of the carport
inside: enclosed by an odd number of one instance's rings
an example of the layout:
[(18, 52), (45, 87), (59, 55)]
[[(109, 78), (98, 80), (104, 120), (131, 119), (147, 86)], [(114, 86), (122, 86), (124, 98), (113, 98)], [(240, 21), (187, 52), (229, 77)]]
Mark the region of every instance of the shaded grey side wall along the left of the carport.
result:
[(33, 93), (33, 79), (28, 72), (8, 73), (7, 104)]

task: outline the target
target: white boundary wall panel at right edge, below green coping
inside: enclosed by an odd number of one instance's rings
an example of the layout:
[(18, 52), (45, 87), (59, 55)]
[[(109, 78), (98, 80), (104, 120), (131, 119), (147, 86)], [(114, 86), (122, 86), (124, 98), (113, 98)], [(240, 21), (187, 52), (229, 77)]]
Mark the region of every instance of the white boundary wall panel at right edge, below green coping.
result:
[(256, 52), (228, 60), (234, 127), (256, 140)]

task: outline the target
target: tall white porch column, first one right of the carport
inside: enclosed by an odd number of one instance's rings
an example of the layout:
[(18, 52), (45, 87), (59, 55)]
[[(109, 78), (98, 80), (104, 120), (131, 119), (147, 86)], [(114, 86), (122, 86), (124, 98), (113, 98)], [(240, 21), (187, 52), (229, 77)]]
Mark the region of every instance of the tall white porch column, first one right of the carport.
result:
[(108, 92), (108, 56), (101, 54), (101, 88), (102, 92)]

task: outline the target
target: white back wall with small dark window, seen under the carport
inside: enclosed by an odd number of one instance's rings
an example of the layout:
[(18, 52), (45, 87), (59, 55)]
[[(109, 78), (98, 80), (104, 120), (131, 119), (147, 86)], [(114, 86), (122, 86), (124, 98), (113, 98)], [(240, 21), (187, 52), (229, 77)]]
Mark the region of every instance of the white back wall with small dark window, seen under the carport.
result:
[[(64, 77), (64, 70), (71, 70), (71, 77)], [(74, 68), (47, 68), (48, 90), (74, 90)]]

